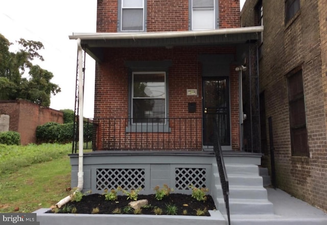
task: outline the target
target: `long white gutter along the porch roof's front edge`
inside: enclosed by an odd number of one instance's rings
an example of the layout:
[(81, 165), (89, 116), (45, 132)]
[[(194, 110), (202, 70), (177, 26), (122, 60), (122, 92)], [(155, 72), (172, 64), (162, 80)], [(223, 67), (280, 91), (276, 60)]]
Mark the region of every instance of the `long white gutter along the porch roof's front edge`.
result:
[(227, 35), (241, 33), (263, 32), (263, 26), (225, 28), (205, 31), (173, 31), (173, 32), (149, 32), (149, 33), (73, 33), (69, 39), (80, 40), (113, 40), (113, 39), (156, 39), (156, 38), (175, 38), (175, 37), (197, 37), (208, 35)]

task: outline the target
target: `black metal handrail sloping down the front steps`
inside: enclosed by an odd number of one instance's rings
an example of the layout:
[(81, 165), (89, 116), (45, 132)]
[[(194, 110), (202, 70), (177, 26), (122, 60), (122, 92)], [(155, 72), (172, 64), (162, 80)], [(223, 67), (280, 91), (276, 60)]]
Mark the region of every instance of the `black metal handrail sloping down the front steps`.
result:
[(218, 129), (218, 124), (217, 124), (216, 118), (214, 118), (214, 152), (216, 155), (220, 183), (221, 183), (224, 200), (225, 200), (228, 224), (230, 225), (229, 198), (228, 198), (228, 195), (229, 195), (228, 176), (227, 176), (226, 167), (225, 167), (225, 163), (224, 163), (223, 152), (222, 152), (222, 149), (220, 146), (219, 129)]

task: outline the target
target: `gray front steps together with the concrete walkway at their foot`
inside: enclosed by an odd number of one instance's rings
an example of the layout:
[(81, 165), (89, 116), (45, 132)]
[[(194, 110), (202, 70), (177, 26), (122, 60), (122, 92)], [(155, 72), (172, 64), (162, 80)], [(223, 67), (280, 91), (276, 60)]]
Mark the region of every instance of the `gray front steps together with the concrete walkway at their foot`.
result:
[[(245, 155), (248, 156), (248, 155)], [(224, 154), (224, 160), (225, 160)], [(237, 160), (235, 160), (237, 159)], [(226, 161), (228, 163), (226, 163)], [(254, 160), (255, 161), (255, 160)], [(268, 170), (247, 157), (225, 160), (229, 181), (231, 225), (325, 225), (327, 214), (271, 185)], [(228, 224), (217, 164), (213, 164), (212, 196)], [(266, 187), (266, 188), (264, 188)], [(216, 193), (218, 194), (216, 194)]]

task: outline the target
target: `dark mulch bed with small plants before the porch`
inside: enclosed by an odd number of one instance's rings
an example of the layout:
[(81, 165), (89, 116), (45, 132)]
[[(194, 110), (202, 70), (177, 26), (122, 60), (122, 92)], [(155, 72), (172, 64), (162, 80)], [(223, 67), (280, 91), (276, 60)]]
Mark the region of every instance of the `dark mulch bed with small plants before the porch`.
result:
[[(156, 200), (155, 195), (138, 195), (138, 200), (147, 199), (148, 207), (143, 207), (141, 214), (155, 215), (154, 208), (159, 207), (162, 210), (162, 215), (167, 215), (167, 206), (174, 205), (177, 207), (177, 215), (190, 215), (196, 216), (197, 210), (215, 210), (215, 202), (210, 195), (206, 196), (206, 201), (198, 201), (191, 197), (191, 195), (186, 194), (176, 194), (172, 193), (169, 196), (165, 196), (162, 200)], [(119, 208), (121, 209), (121, 214), (134, 214), (133, 210), (129, 212), (124, 211), (124, 208), (128, 206), (131, 200), (127, 200), (127, 196), (118, 196), (118, 199), (115, 201), (105, 200), (105, 196), (101, 194), (89, 194), (83, 196), (82, 200), (79, 202), (71, 201), (66, 205), (68, 208), (72, 209), (76, 207), (78, 214), (91, 214), (94, 208), (99, 208), (98, 214), (113, 214), (112, 212)], [(66, 206), (66, 209), (67, 209)], [(65, 206), (60, 208), (58, 213), (66, 213), (63, 212)], [(187, 213), (183, 214), (183, 211), (186, 210)], [(51, 213), (51, 211), (49, 211)], [(206, 211), (205, 216), (210, 216), (210, 214)]]

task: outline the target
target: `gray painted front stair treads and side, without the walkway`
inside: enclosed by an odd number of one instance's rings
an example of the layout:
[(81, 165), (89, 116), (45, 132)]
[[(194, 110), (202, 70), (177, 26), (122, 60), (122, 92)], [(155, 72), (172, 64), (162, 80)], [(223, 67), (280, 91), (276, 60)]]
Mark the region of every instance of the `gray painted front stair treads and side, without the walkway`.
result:
[[(273, 214), (273, 205), (268, 200), (258, 166), (253, 164), (226, 164), (225, 166), (229, 182), (230, 215)], [(225, 214), (226, 208), (217, 164), (213, 165), (213, 170), (215, 187), (218, 191), (216, 199), (218, 208)]]

